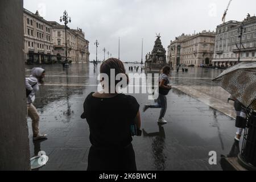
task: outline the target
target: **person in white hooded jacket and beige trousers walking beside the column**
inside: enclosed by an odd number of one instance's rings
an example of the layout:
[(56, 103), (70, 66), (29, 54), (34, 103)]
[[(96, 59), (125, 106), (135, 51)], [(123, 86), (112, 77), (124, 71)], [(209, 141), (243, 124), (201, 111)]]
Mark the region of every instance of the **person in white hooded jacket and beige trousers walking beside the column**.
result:
[(27, 115), (32, 119), (33, 140), (46, 139), (46, 134), (39, 133), (39, 114), (33, 102), (35, 101), (35, 94), (39, 90), (39, 84), (43, 84), (43, 78), (46, 72), (42, 68), (33, 68), (30, 77), (26, 78), (27, 96)]

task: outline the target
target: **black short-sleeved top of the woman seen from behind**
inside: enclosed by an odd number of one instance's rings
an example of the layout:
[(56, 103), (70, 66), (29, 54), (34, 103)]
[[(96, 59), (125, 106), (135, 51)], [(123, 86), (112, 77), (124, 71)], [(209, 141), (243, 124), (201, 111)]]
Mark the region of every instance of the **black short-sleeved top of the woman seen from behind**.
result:
[(100, 148), (122, 148), (133, 140), (130, 126), (139, 111), (133, 96), (118, 94), (113, 98), (89, 96), (84, 102), (81, 118), (88, 122), (90, 142)]

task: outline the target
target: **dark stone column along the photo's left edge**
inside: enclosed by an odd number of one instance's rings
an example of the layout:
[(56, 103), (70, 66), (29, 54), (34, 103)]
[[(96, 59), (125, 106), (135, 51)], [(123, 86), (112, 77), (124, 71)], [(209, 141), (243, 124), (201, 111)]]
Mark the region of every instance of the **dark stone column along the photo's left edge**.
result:
[(23, 1), (0, 1), (0, 171), (30, 170)]

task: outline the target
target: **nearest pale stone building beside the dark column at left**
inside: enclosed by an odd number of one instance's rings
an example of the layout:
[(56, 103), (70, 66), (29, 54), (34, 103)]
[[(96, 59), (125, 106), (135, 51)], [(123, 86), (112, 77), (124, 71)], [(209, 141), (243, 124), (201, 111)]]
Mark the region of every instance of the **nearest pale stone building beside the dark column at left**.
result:
[(52, 27), (36, 11), (23, 9), (24, 57), (27, 64), (52, 63)]

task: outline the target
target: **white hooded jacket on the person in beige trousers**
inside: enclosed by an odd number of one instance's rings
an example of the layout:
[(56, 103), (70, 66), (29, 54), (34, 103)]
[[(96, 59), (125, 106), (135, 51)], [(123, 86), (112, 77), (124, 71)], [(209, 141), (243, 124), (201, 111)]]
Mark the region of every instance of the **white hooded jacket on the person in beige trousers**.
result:
[(32, 91), (27, 97), (27, 104), (31, 104), (35, 101), (35, 94), (39, 90), (38, 78), (42, 75), (43, 72), (44, 69), (42, 68), (33, 68), (30, 77), (26, 78), (26, 89)]

